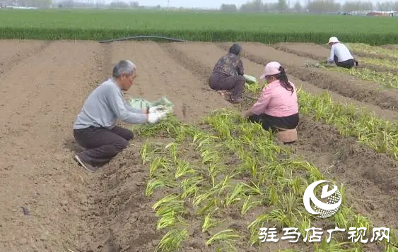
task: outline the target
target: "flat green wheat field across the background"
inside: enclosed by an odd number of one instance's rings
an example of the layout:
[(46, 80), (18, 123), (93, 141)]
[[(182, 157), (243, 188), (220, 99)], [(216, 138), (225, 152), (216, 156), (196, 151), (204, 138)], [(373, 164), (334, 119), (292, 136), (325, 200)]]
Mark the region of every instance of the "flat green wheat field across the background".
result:
[(396, 18), (209, 11), (1, 10), (1, 39), (108, 40), (158, 35), (195, 41), (395, 44)]

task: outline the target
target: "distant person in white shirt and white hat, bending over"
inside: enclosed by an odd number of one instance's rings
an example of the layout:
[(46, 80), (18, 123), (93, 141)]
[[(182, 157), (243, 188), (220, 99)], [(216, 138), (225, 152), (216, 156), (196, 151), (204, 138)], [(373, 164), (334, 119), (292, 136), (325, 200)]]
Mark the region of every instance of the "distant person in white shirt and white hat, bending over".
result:
[(352, 68), (354, 64), (358, 66), (358, 61), (353, 58), (346, 45), (339, 42), (337, 37), (330, 37), (328, 44), (332, 47), (330, 49), (330, 56), (327, 59), (327, 64), (334, 63), (336, 66), (348, 69)]

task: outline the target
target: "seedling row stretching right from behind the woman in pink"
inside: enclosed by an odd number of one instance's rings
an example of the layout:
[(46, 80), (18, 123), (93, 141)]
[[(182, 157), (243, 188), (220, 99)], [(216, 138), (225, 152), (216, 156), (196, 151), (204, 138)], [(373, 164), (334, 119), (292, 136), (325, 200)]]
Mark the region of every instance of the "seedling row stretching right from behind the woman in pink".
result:
[[(254, 83), (247, 90), (258, 93), (261, 86)], [(360, 143), (373, 148), (377, 153), (385, 153), (398, 160), (398, 121), (386, 121), (375, 112), (353, 104), (333, 102), (327, 92), (312, 95), (298, 89), (298, 102), (301, 114), (336, 126), (342, 136), (358, 138)]]

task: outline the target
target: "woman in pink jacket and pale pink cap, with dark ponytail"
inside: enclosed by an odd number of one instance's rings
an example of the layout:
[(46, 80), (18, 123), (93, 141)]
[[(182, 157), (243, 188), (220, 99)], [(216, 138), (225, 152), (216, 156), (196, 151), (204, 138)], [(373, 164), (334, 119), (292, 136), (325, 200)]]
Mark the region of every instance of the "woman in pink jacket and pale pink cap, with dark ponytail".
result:
[(295, 85), (288, 80), (285, 69), (276, 61), (269, 62), (260, 79), (268, 83), (251, 109), (242, 113), (265, 130), (293, 129), (298, 126), (298, 102)]

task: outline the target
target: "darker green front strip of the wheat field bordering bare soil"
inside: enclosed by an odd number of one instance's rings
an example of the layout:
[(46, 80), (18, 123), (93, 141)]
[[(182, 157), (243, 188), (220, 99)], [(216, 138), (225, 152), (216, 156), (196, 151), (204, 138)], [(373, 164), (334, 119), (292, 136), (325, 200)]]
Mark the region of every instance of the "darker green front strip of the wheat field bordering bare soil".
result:
[[(176, 25), (177, 26), (177, 25)], [(255, 30), (197, 30), (181, 28), (170, 30), (168, 28), (18, 28), (0, 27), (0, 39), (2, 40), (112, 40), (119, 37), (130, 37), (138, 35), (153, 35), (163, 37), (176, 37), (180, 40), (199, 42), (262, 42), (275, 44), (279, 42), (312, 42), (322, 44), (330, 37), (329, 32), (278, 32), (278, 31), (255, 31)], [(388, 34), (346, 34), (346, 40), (368, 42), (382, 42), (382, 44), (397, 43), (394, 35)], [(157, 41), (156, 39), (153, 39)], [(164, 40), (159, 40), (164, 41)]]

